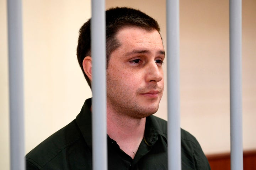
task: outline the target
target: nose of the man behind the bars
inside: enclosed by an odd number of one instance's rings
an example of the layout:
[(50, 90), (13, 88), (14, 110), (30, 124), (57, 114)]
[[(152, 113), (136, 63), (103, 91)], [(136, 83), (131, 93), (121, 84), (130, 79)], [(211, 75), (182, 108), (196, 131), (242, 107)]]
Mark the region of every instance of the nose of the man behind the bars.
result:
[(159, 82), (163, 79), (162, 66), (159, 66), (155, 61), (148, 63), (146, 67), (146, 81), (147, 82)]

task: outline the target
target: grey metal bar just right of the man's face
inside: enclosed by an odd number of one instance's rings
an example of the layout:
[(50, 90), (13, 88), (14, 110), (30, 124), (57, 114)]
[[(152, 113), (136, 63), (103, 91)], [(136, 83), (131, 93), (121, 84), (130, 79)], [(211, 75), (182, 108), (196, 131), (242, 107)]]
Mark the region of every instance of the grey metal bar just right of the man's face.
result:
[(166, 1), (169, 170), (181, 170), (179, 6), (179, 0)]

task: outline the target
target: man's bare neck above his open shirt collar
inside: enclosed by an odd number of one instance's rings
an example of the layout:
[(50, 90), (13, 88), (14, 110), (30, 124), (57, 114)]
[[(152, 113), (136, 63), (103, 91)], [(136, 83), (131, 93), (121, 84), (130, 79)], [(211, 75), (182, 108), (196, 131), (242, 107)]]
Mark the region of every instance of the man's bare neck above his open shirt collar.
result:
[(134, 158), (144, 137), (146, 118), (131, 118), (126, 115), (107, 113), (107, 134), (119, 147)]

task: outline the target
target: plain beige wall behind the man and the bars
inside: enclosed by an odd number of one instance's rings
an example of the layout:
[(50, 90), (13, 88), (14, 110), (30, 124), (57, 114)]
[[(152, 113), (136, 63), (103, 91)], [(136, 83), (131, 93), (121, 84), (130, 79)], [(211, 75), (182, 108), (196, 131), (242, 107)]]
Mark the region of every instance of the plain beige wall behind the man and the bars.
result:
[[(73, 120), (91, 96), (76, 61), (78, 31), (90, 18), (90, 1), (75, 2), (23, 1), (26, 153)], [(242, 5), (243, 141), (248, 150), (256, 149), (256, 1)], [(166, 47), (165, 0), (107, 0), (110, 6), (132, 6), (154, 17)], [(0, 164), (9, 169), (5, 0), (0, 0), (0, 16)], [(228, 17), (228, 0), (180, 1), (181, 127), (196, 136), (206, 154), (230, 147)], [(166, 105), (165, 89), (156, 115), (167, 119)]]

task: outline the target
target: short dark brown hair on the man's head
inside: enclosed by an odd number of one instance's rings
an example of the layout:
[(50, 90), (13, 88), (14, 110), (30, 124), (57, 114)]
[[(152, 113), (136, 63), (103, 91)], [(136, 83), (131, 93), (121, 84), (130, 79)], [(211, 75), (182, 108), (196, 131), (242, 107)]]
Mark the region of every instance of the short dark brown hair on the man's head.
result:
[[(106, 11), (106, 57), (107, 66), (111, 53), (120, 44), (116, 39), (117, 32), (124, 27), (139, 27), (149, 31), (157, 30), (160, 33), (158, 22), (145, 13), (128, 7), (115, 7)], [(80, 28), (76, 55), (85, 79), (91, 87), (90, 79), (84, 72), (82, 62), (86, 56), (91, 56), (91, 19)]]

